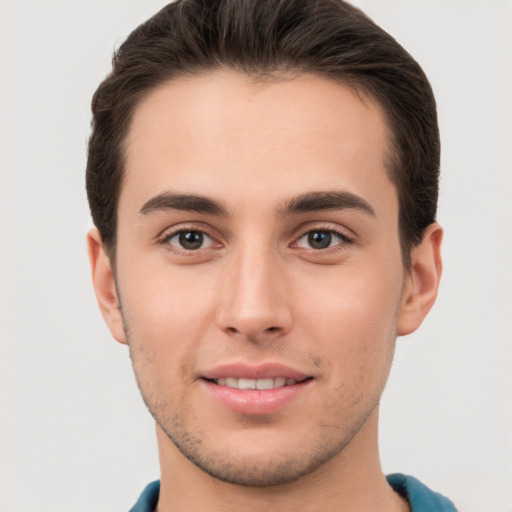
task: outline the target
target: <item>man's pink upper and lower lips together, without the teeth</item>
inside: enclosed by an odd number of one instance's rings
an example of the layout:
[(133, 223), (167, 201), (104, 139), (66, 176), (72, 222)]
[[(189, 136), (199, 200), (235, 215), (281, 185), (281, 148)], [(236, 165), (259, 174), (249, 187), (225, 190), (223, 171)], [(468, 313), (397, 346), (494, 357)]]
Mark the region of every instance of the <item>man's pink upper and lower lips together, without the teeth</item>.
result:
[[(279, 388), (241, 390), (221, 386), (214, 379), (235, 377), (265, 379), (285, 377), (298, 381)], [(201, 374), (200, 383), (208, 395), (222, 408), (240, 415), (265, 415), (278, 412), (300, 399), (314, 383), (312, 375), (280, 363), (248, 365), (224, 364)]]

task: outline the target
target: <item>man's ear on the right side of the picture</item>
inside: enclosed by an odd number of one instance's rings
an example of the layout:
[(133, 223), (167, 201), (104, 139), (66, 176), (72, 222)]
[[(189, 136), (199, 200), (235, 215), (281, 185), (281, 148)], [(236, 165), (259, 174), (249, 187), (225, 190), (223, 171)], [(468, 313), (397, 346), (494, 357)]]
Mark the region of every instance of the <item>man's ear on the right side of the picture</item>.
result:
[(434, 222), (428, 226), (421, 243), (411, 251), (411, 267), (398, 314), (398, 336), (414, 332), (434, 305), (443, 268), (442, 239), (443, 230)]

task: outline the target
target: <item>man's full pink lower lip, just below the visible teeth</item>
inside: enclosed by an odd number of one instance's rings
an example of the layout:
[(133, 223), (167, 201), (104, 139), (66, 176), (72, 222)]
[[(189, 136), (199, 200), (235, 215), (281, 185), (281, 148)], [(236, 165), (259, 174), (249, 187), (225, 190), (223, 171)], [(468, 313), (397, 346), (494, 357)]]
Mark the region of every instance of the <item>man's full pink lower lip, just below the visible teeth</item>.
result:
[(203, 380), (202, 383), (211, 393), (214, 400), (227, 409), (238, 414), (270, 414), (279, 411), (293, 402), (311, 385), (312, 380), (306, 380), (274, 389), (236, 389), (219, 386), (214, 382)]

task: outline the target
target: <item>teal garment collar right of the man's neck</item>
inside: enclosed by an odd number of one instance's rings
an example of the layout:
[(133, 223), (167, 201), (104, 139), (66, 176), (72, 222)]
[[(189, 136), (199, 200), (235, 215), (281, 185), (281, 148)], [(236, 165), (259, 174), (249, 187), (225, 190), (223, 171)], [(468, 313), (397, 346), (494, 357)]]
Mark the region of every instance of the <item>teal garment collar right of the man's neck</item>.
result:
[(387, 477), (395, 492), (409, 502), (411, 512), (456, 512), (455, 505), (443, 495), (432, 491), (413, 476), (395, 473)]

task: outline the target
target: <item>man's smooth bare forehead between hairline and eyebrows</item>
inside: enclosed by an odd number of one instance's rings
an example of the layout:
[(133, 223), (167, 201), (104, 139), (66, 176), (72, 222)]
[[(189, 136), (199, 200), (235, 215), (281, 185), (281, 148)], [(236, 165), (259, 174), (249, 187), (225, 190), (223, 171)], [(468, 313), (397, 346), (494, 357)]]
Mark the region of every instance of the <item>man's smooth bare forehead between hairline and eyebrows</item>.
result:
[(379, 105), (314, 75), (254, 81), (217, 71), (169, 81), (136, 107), (120, 205), (173, 190), (234, 207), (244, 190), (275, 201), (311, 189), (396, 195)]

